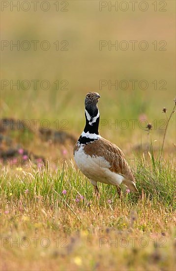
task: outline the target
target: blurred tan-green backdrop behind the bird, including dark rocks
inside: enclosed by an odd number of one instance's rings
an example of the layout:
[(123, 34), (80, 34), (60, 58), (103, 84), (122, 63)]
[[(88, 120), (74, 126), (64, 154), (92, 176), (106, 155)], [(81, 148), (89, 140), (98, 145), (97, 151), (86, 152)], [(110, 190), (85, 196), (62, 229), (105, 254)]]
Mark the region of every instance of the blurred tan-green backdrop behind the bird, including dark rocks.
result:
[[(31, 1), (18, 7), (3, 2), (1, 158), (72, 158), (89, 91), (101, 95), (100, 134), (127, 158), (147, 151), (147, 123), (159, 150), (167, 118), (162, 109), (169, 117), (176, 96), (174, 0), (147, 1), (146, 11), (141, 1), (134, 11), (130, 1), (126, 7), (124, 1), (39, 1), (36, 11)], [(165, 157), (175, 155), (175, 120)]]

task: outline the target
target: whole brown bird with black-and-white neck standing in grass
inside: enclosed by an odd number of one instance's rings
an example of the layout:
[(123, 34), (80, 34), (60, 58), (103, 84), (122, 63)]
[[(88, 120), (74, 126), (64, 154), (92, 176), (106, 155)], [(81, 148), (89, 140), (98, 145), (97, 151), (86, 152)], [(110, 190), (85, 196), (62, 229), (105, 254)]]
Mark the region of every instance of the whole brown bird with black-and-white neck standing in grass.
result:
[(131, 191), (138, 192), (135, 177), (123, 152), (114, 143), (98, 134), (99, 111), (96, 99), (99, 98), (98, 93), (87, 94), (86, 127), (74, 147), (76, 164), (89, 178), (96, 192), (98, 192), (97, 181), (116, 185), (119, 194), (120, 183), (125, 184)]

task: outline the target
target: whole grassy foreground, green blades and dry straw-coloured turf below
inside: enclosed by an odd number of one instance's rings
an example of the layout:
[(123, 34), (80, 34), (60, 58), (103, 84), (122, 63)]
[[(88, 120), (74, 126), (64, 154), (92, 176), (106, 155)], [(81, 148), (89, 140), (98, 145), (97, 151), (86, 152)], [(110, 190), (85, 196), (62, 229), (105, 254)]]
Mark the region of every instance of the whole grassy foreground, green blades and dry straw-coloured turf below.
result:
[(171, 163), (138, 161), (139, 195), (121, 200), (103, 184), (97, 199), (71, 165), (14, 171), (1, 172), (2, 270), (174, 270)]

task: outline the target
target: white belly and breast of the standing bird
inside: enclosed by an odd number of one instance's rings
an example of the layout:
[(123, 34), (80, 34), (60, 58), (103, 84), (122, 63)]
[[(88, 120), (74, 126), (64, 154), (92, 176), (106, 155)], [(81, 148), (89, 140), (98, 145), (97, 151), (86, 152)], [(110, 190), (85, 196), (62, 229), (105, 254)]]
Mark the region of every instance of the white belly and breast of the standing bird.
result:
[(85, 154), (81, 146), (74, 154), (78, 168), (91, 180), (119, 185), (124, 177), (110, 170), (110, 164), (103, 157)]

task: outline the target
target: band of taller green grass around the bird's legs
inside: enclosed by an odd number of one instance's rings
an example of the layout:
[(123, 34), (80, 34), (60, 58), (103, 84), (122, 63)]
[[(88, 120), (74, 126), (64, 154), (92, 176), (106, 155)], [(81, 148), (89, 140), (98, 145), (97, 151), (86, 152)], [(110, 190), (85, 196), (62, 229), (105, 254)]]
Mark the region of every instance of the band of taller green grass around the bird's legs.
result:
[[(156, 201), (161, 201), (165, 206), (172, 205), (175, 196), (175, 171), (171, 162), (168, 162), (164, 167), (160, 166), (159, 161), (155, 161), (153, 167), (152, 163), (149, 163), (145, 158), (140, 161), (137, 160), (136, 163), (139, 194), (145, 193), (145, 197), (152, 197)], [(103, 204), (108, 201), (108, 197), (112, 198), (112, 195), (115, 198), (117, 197), (116, 187), (110, 186), (109, 188), (106, 185), (99, 185), (102, 193), (100, 202), (103, 201)], [(7, 201), (11, 198), (20, 200), (20, 197), (24, 197), (25, 191), (29, 190), (28, 195), (26, 195), (28, 200), (31, 201), (35, 197), (42, 197), (45, 203), (52, 205), (60, 197), (63, 190), (67, 191), (64, 197), (68, 203), (74, 201), (78, 193), (88, 201), (91, 200), (93, 195), (91, 184), (71, 164), (69, 166), (63, 164), (62, 168), (56, 170), (44, 166), (38, 170), (34, 165), (28, 171), (16, 168), (14, 175), (11, 175), (10, 169), (3, 168), (1, 189)], [(13, 197), (9, 196), (11, 194)], [(139, 200), (139, 196), (136, 195), (130, 193), (126, 197), (129, 201), (134, 202)]]

